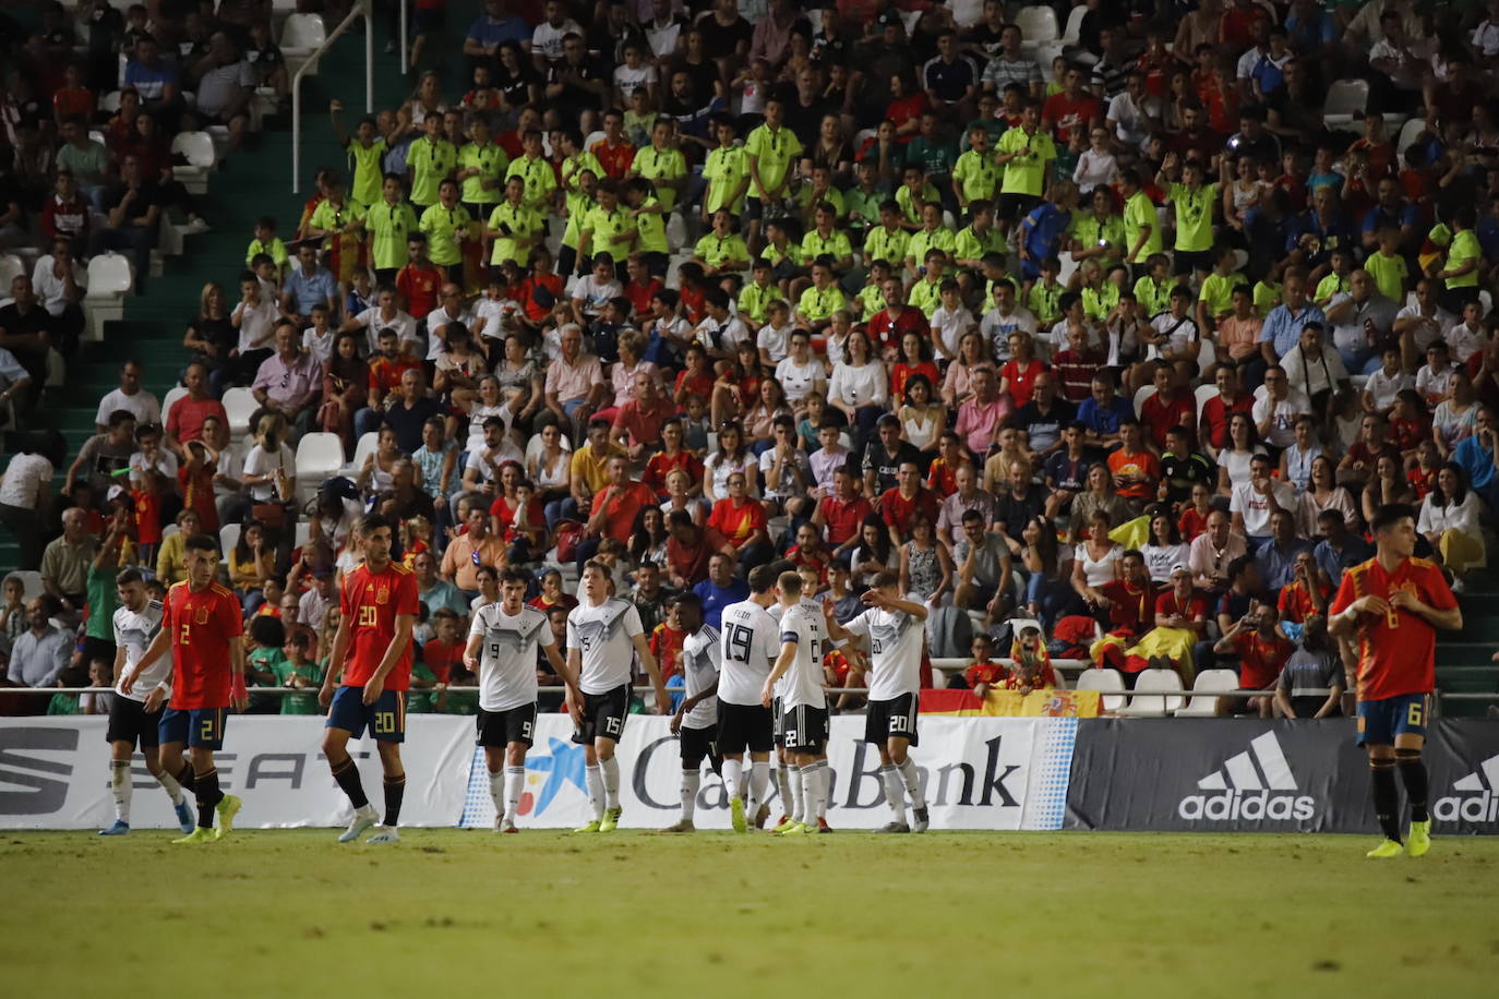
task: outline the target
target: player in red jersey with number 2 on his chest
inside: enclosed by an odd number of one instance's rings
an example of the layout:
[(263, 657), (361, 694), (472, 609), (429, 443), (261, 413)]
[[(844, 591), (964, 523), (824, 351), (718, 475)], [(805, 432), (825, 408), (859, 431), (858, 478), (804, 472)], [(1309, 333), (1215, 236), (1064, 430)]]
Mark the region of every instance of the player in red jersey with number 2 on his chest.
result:
[[(145, 698), (145, 711), (156, 711), (162, 770), (198, 798), (198, 828), (174, 843), (220, 840), (234, 828), (240, 798), (219, 789), (213, 753), (223, 749), (223, 725), (229, 705), (243, 711), (250, 704), (244, 690), (244, 647), (240, 635), (244, 619), (240, 601), (228, 587), (214, 583), (219, 572), (219, 542), (208, 535), (193, 535), (184, 545), (187, 581), (166, 592), (162, 628), (141, 661), (120, 677), (120, 690), (129, 693), (136, 677), (172, 650), (172, 678)], [(190, 762), (183, 761), (183, 747)], [(213, 813), (219, 813), (219, 830)]]

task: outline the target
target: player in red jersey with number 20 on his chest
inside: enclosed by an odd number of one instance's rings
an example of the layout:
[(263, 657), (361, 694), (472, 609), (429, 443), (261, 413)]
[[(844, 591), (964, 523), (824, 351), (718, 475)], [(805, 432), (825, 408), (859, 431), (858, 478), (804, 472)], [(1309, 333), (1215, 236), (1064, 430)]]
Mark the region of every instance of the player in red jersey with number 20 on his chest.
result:
[[(411, 631), (417, 625), (417, 575), (390, 557), (394, 529), (378, 514), (360, 524), (364, 565), (343, 577), (339, 632), (328, 653), (328, 672), (318, 699), (328, 707), (322, 753), (333, 779), (349, 795), (354, 819), (339, 836), (352, 843), (375, 825), (376, 812), (364, 794), (358, 767), (349, 756), (351, 738), (369, 728), (385, 773), (385, 824), (369, 843), (396, 843), (406, 771), (400, 743), (406, 738), (406, 690), (411, 687)], [(333, 690), (334, 678), (343, 675)]]

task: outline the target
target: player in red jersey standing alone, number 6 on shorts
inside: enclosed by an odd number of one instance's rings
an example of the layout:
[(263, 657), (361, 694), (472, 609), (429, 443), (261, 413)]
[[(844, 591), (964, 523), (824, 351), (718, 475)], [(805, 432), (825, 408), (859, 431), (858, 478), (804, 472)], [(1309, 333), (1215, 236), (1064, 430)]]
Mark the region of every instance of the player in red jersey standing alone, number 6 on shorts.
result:
[[(1370, 857), (1421, 857), (1432, 848), (1426, 716), (1436, 686), (1436, 631), (1457, 631), (1463, 611), (1433, 562), (1415, 559), (1415, 509), (1381, 506), (1370, 523), (1375, 557), (1343, 574), (1333, 598), (1334, 634), (1358, 641), (1358, 744), (1369, 749), (1375, 813), (1385, 833)], [(1402, 845), (1396, 768), (1411, 798), (1411, 842)]]

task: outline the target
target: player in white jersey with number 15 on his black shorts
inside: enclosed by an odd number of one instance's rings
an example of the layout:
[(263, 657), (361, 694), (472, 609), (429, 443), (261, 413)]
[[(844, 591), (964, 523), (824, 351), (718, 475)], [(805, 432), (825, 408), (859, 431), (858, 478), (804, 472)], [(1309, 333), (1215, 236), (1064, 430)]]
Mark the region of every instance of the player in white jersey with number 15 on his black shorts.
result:
[(594, 821), (577, 833), (612, 833), (619, 825), (619, 761), (615, 746), (625, 731), (630, 711), (631, 653), (640, 658), (655, 687), (657, 711), (672, 708), (661, 669), (645, 629), (640, 613), (630, 601), (609, 595), (609, 566), (595, 559), (583, 563), (579, 580), (582, 602), (567, 616), (567, 665), (577, 674), (583, 692), (580, 735), (588, 764), (588, 798)]

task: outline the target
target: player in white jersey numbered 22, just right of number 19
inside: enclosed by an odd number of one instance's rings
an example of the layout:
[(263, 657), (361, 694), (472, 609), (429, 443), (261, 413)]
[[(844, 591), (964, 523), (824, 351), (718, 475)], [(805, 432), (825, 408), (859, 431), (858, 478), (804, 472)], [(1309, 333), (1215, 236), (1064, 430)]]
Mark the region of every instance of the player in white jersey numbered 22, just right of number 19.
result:
[[(775, 583), (781, 604), (781, 653), (760, 690), (760, 704), (775, 699), (781, 687), (781, 734), (791, 765), (800, 768), (802, 821), (791, 822), (781, 836), (827, 833), (817, 821), (827, 812), (827, 695), (823, 693), (823, 652), (827, 649), (827, 622), (821, 608), (802, 601), (802, 577), (782, 572)], [(814, 819), (815, 816), (815, 819)]]

